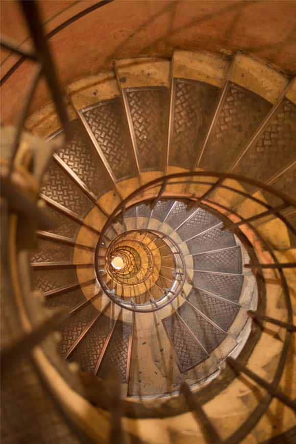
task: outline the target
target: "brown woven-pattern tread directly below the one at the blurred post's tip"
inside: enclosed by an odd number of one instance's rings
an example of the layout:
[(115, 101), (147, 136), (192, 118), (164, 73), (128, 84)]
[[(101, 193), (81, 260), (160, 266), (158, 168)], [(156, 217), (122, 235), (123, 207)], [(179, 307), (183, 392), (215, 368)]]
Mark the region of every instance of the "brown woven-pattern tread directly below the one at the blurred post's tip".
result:
[(79, 216), (84, 216), (93, 207), (93, 203), (54, 160), (51, 161), (47, 174), (48, 180), (42, 185), (41, 193)]

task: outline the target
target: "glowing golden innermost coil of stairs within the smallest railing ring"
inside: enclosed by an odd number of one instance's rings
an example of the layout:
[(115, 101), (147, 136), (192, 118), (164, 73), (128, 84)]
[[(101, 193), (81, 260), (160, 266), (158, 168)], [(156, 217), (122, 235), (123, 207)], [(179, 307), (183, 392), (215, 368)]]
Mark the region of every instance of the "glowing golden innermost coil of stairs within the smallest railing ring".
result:
[(155, 311), (180, 293), (185, 261), (178, 245), (156, 230), (127, 230), (98, 242), (96, 273), (108, 297), (131, 311)]

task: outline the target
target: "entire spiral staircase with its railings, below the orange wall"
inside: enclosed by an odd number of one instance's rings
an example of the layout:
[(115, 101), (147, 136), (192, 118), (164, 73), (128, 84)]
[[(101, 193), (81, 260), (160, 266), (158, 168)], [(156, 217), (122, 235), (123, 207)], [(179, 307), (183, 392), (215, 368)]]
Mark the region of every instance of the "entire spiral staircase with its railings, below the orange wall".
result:
[(3, 442), (293, 442), (296, 80), (175, 50), (63, 104), (3, 132)]

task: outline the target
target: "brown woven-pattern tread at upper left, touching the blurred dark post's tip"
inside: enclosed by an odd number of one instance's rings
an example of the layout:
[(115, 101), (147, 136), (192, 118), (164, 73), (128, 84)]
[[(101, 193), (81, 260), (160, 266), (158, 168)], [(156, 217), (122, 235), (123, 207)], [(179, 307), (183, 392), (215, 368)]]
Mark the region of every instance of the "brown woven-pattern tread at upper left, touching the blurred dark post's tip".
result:
[[(72, 138), (58, 151), (58, 156), (100, 197), (112, 189), (112, 182), (80, 120), (70, 122)], [(100, 174), (98, 174), (100, 172)]]

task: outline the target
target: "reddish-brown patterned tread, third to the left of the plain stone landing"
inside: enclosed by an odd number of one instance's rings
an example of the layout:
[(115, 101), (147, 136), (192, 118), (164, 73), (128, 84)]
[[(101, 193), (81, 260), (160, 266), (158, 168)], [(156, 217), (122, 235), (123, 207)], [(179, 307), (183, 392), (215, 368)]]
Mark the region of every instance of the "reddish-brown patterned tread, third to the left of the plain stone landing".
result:
[(60, 327), (62, 340), (58, 346), (58, 350), (63, 356), (67, 354), (69, 348), (96, 315), (97, 310), (89, 304), (63, 323)]

